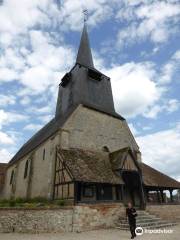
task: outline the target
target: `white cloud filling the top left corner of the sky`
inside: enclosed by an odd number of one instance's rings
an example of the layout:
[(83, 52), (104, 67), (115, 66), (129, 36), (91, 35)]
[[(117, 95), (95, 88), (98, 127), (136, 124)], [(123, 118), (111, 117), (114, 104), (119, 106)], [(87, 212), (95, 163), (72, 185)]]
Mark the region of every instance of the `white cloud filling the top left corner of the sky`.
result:
[(46, 12), (52, 10), (54, 4), (50, 0), (7, 0), (0, 8), (0, 31), (12, 34), (24, 33), (35, 24), (48, 25)]

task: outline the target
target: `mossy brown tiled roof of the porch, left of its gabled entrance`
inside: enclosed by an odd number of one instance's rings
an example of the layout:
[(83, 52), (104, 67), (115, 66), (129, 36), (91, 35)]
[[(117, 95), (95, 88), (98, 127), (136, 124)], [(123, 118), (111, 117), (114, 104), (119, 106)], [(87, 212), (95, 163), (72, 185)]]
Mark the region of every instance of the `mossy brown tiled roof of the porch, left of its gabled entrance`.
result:
[(61, 149), (60, 154), (76, 181), (123, 184), (112, 171), (108, 153)]

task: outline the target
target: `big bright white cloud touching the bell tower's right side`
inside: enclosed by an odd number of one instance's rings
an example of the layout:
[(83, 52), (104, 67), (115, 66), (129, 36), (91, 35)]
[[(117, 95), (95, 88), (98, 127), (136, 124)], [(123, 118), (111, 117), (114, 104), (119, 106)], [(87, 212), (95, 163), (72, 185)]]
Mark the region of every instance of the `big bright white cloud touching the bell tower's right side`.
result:
[(144, 114), (161, 97), (151, 63), (130, 62), (114, 66), (106, 74), (111, 76), (116, 109), (125, 117)]

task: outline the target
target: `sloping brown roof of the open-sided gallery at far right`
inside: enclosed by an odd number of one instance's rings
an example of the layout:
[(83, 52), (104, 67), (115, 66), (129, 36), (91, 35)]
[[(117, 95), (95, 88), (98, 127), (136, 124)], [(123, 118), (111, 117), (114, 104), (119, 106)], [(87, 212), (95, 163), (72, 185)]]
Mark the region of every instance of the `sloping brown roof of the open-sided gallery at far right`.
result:
[(142, 163), (143, 183), (148, 187), (180, 188), (180, 182)]

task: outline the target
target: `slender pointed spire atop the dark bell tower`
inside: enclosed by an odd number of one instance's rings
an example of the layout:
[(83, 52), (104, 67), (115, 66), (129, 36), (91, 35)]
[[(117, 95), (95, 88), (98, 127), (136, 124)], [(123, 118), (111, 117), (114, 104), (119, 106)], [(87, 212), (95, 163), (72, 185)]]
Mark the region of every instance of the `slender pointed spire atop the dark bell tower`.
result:
[(94, 68), (86, 23), (84, 23), (76, 63)]

